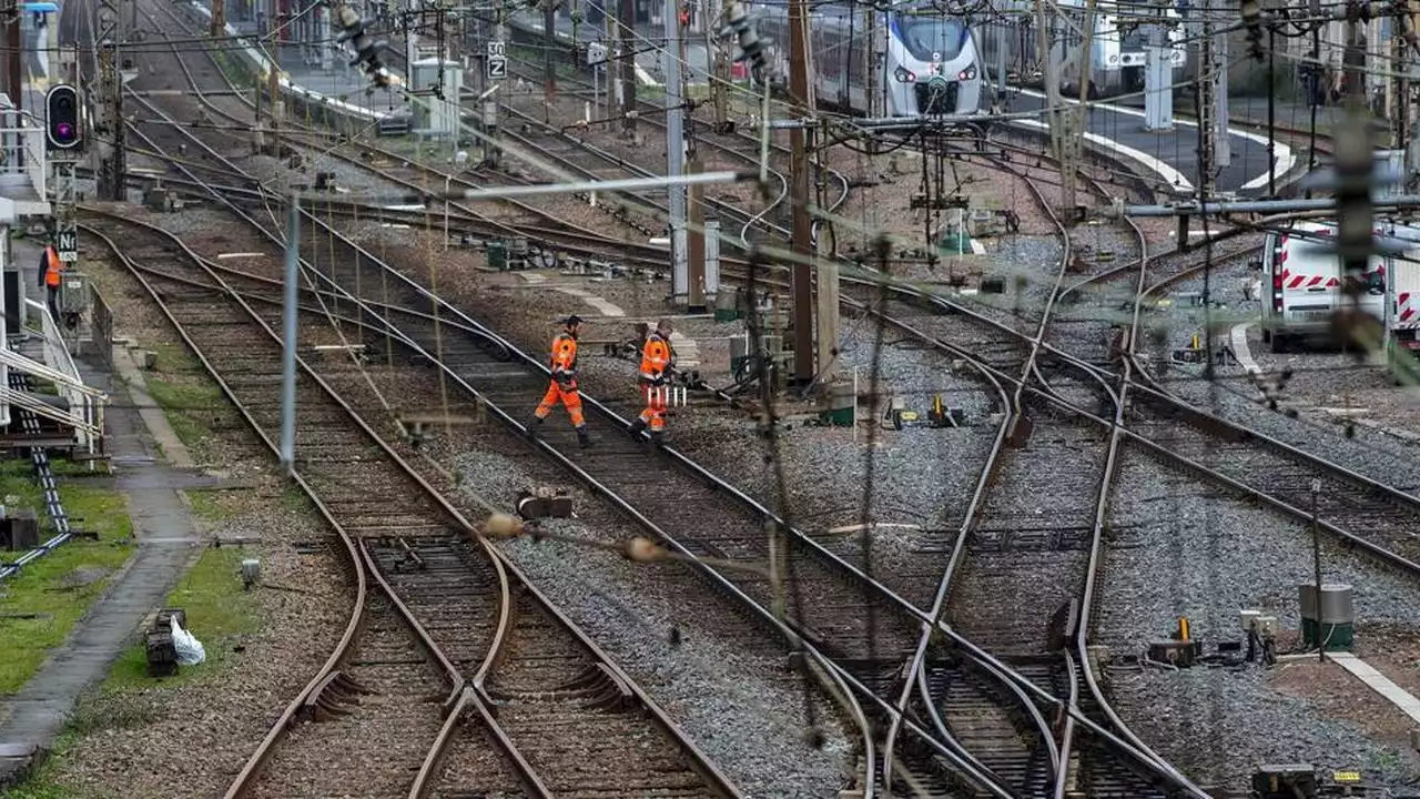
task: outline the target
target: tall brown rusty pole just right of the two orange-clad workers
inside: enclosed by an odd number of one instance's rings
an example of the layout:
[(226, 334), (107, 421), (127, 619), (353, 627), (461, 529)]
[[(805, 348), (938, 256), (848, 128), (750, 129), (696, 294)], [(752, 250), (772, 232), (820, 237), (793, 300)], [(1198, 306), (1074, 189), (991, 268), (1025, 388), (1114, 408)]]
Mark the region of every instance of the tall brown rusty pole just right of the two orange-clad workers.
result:
[[(815, 112), (814, 74), (809, 58), (812, 51), (808, 45), (809, 11), (807, 0), (790, 0), (790, 95), (794, 104), (792, 114), (798, 118), (811, 117)], [(812, 260), (814, 260), (814, 226), (809, 216), (811, 169), (809, 169), (809, 135), (805, 128), (790, 131), (791, 166), (790, 166), (790, 199), (794, 203), (794, 264), (790, 270), (792, 276), (794, 301), (794, 382), (804, 385), (814, 380), (814, 289)]]

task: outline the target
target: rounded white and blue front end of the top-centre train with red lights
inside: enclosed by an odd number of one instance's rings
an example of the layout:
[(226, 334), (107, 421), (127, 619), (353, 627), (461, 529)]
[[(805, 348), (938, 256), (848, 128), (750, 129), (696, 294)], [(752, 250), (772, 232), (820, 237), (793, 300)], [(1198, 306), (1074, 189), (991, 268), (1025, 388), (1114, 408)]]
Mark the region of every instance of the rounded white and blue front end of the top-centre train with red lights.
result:
[(961, 18), (930, 7), (888, 16), (889, 114), (976, 114), (981, 85), (980, 58)]

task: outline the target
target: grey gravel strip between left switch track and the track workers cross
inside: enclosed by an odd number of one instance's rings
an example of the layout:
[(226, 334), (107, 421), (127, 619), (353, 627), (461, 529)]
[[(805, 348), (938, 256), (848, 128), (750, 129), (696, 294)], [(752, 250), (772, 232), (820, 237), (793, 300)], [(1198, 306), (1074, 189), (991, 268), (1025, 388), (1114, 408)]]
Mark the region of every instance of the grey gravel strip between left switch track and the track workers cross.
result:
[[(479, 495), (511, 502), (535, 479), (527, 463), (467, 452), (454, 465)], [(538, 469), (541, 471), (541, 469)], [(618, 540), (619, 518), (574, 490), (578, 518), (550, 532)], [(814, 749), (804, 739), (802, 694), (785, 653), (719, 596), (706, 597), (679, 566), (638, 566), (618, 554), (562, 542), (515, 540), (504, 552), (592, 636), (682, 729), (755, 796), (824, 796), (848, 785), (853, 748), (836, 724)], [(825, 708), (819, 707), (819, 718)]]

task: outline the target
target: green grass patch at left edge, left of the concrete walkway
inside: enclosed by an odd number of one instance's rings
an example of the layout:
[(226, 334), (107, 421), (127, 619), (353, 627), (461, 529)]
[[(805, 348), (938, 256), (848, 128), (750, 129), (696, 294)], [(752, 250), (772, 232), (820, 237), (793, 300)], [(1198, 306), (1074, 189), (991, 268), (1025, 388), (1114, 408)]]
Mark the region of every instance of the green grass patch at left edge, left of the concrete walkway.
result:
[[(43, 516), (40, 489), (28, 482), (28, 461), (0, 462), (0, 486), (23, 496)], [(98, 533), (98, 540), (75, 539), (36, 560), (0, 584), (0, 694), (18, 691), (44, 663), (53, 647), (64, 643), (132, 552), (132, 522), (124, 496), (114, 490), (60, 486), (64, 509), (77, 527)]]

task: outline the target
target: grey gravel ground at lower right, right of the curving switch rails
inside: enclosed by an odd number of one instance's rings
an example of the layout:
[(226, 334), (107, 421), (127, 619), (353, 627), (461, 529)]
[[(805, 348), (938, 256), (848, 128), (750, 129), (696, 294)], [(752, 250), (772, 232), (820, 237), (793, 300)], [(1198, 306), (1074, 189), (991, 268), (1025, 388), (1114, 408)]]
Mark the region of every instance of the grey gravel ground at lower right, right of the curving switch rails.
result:
[[(1296, 586), (1312, 580), (1305, 525), (1216, 492), (1136, 448), (1126, 449), (1116, 486), (1095, 643), (1116, 658), (1143, 654), (1187, 616), (1211, 651), (1216, 641), (1241, 638), (1241, 608), (1299, 627)], [(1322, 573), (1353, 586), (1359, 621), (1413, 628), (1420, 587), (1411, 579), (1326, 537)], [(1331, 714), (1278, 695), (1257, 670), (1115, 671), (1113, 701), (1125, 721), (1201, 781), (1237, 783), (1264, 762), (1379, 768), (1396, 759)], [(1376, 695), (1358, 701), (1376, 712), (1386, 707)], [(1404, 762), (1400, 776), (1414, 773), (1409, 755)]]

